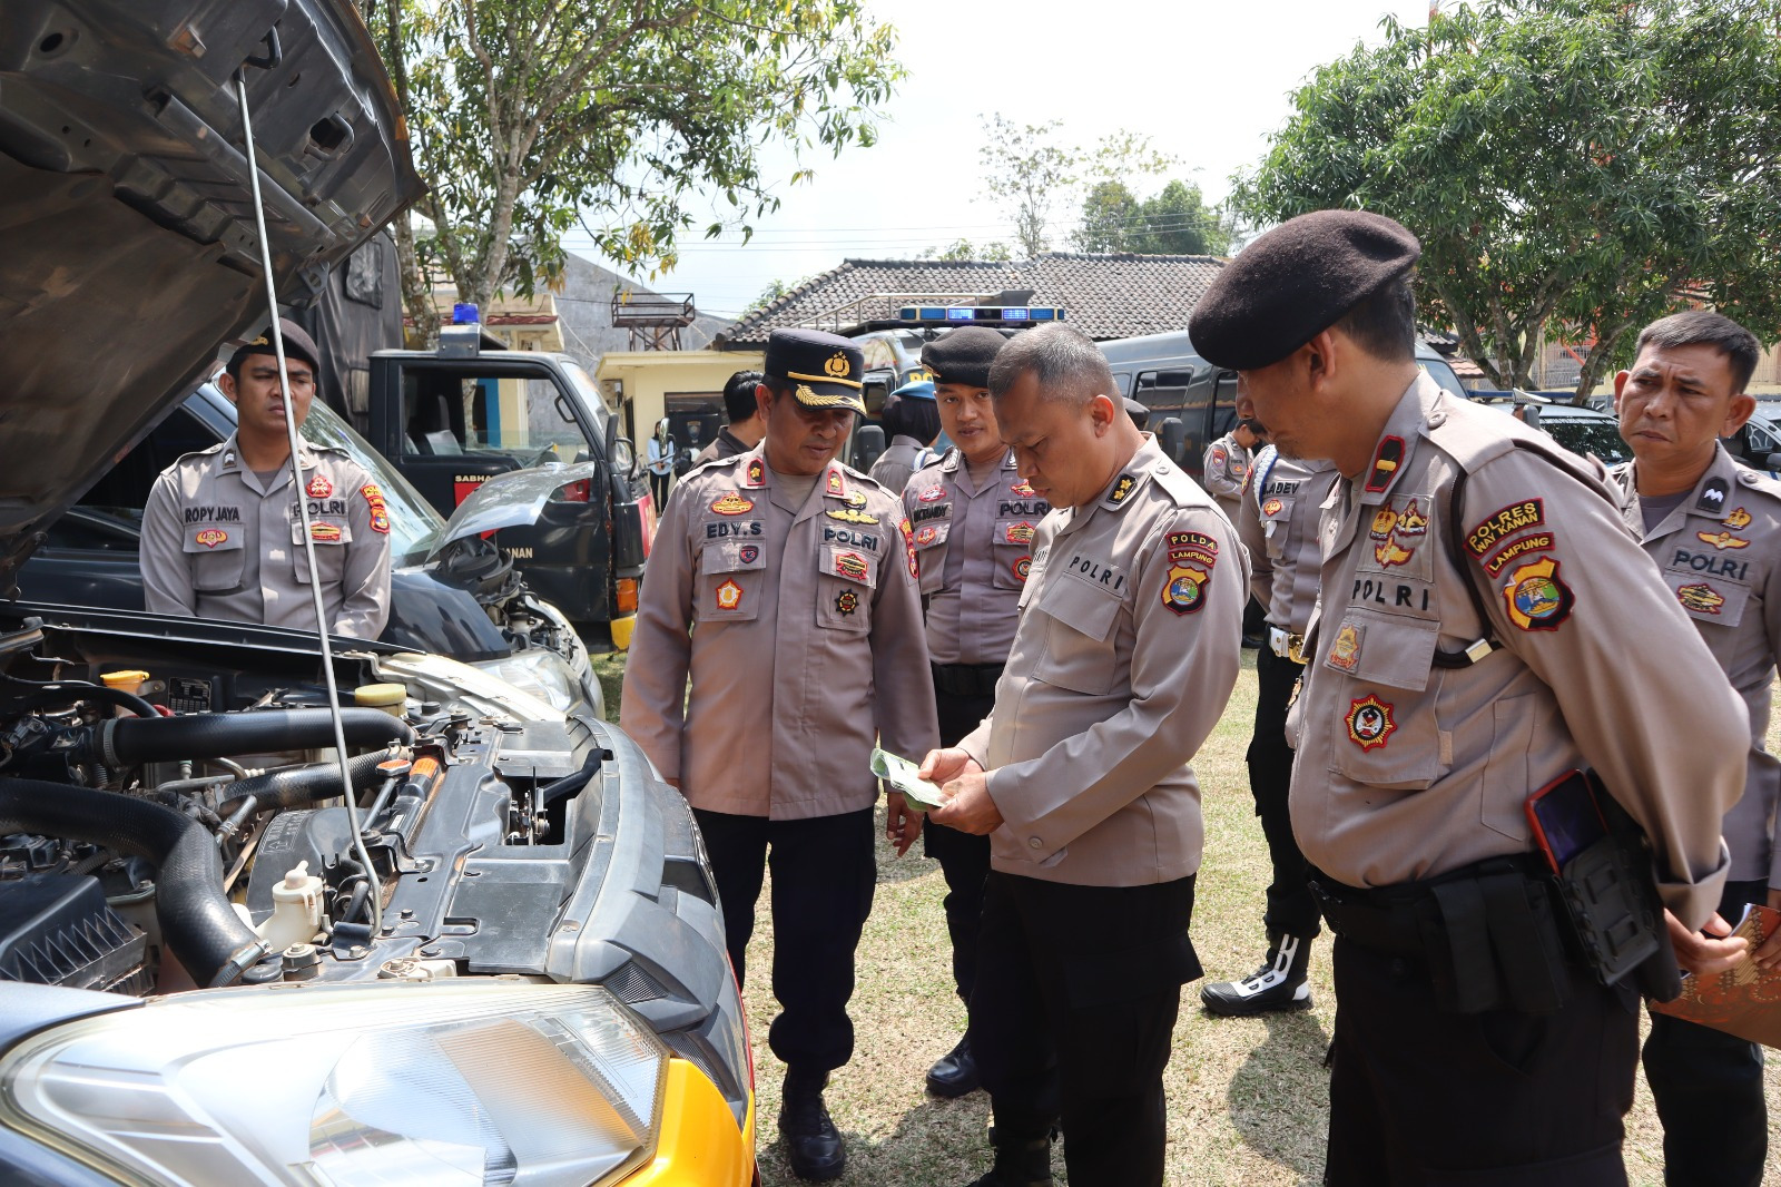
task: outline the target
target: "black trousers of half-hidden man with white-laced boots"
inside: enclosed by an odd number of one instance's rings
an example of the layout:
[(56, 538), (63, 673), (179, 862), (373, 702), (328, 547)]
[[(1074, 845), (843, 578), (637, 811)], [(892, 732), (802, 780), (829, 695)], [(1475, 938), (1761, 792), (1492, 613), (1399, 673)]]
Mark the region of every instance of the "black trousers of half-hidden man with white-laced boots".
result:
[(1256, 815), (1268, 839), (1273, 882), (1268, 884), (1268, 911), (1263, 923), (1270, 932), (1316, 936), (1318, 904), (1311, 896), (1309, 868), (1293, 836), (1288, 793), (1293, 786), (1293, 750), (1286, 745), (1286, 708), (1305, 665), (1263, 647), (1256, 652), (1256, 733), (1248, 740), (1248, 791), (1256, 797)]

